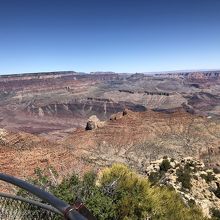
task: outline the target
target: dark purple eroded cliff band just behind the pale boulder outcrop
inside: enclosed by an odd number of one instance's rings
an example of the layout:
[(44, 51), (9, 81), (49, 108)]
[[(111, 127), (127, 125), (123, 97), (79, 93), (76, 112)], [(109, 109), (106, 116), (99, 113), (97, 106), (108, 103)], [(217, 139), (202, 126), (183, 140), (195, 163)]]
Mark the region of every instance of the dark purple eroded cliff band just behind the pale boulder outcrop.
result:
[(56, 117), (73, 117), (86, 119), (93, 114), (99, 118), (106, 120), (113, 113), (122, 111), (124, 107), (128, 107), (133, 111), (145, 111), (146, 108), (142, 105), (129, 102), (114, 102), (106, 99), (81, 98), (75, 99), (67, 103), (48, 104), (39, 106), (30, 104), (26, 107), (26, 111), (30, 114), (39, 117), (56, 116)]

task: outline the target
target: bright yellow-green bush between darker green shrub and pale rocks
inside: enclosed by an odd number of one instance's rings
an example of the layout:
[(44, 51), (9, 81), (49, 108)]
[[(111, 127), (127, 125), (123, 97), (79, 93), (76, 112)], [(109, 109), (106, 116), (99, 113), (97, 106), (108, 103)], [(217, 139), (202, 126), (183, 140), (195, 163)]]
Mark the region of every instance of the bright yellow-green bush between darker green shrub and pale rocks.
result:
[(100, 186), (117, 181), (114, 201), (119, 219), (203, 219), (201, 212), (187, 208), (179, 195), (165, 187), (151, 187), (123, 165), (105, 169), (98, 178)]

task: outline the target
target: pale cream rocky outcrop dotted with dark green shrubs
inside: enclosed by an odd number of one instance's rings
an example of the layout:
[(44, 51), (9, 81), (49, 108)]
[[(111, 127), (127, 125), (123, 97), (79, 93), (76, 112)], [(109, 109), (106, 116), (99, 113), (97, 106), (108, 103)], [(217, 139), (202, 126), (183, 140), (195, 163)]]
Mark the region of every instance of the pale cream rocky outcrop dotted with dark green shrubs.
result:
[(170, 158), (153, 161), (145, 173), (153, 184), (173, 188), (187, 205), (197, 204), (211, 217), (220, 210), (220, 171), (214, 171), (187, 157), (180, 161)]

